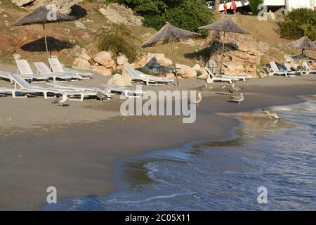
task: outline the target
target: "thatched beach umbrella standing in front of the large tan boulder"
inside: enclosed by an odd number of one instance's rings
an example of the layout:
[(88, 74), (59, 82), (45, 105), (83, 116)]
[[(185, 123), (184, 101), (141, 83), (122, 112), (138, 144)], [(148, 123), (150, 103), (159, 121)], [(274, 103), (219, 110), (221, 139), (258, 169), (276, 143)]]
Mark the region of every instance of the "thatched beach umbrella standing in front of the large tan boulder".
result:
[(224, 57), (224, 50), (225, 50), (225, 34), (226, 34), (226, 32), (238, 33), (238, 34), (249, 34), (248, 31), (244, 30), (242, 27), (239, 27), (237, 24), (235, 24), (234, 22), (232, 22), (232, 20), (230, 20), (228, 18), (218, 20), (216, 23), (212, 23), (210, 25), (199, 27), (199, 29), (215, 30), (218, 32), (223, 32), (223, 49), (222, 49), (222, 58), (220, 60), (220, 74), (222, 73), (222, 67), (223, 67), (223, 57)]

